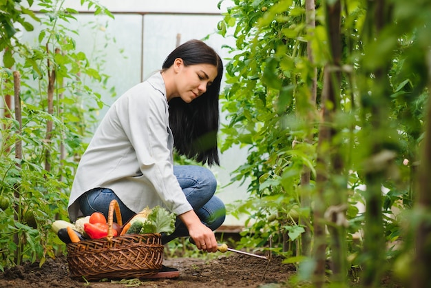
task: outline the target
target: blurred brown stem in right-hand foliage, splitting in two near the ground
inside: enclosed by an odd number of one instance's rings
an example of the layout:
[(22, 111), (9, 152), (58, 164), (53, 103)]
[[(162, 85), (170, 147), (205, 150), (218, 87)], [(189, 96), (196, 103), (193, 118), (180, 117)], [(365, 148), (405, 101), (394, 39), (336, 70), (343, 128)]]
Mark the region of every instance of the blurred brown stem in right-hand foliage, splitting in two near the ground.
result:
[[(330, 62), (324, 69), (324, 85), (322, 90), (322, 121), (319, 127), (319, 143), (317, 145), (317, 196), (315, 199), (315, 287), (323, 287), (326, 265), (326, 232), (325, 212), (327, 201), (332, 205), (341, 205), (343, 196), (337, 193), (328, 195), (328, 192), (337, 191), (339, 187), (332, 182), (333, 176), (342, 172), (342, 162), (339, 156), (339, 144), (334, 143), (338, 130), (335, 128), (335, 113), (339, 110), (339, 83), (341, 79), (341, 2), (325, 3), (326, 27), (330, 46)], [(330, 104), (330, 105), (328, 105)], [(326, 192), (328, 191), (328, 192)], [(341, 190), (342, 191), (342, 190)], [(336, 219), (333, 219), (334, 221)], [(346, 271), (344, 265), (344, 229), (335, 223), (328, 226), (332, 243), (333, 280), (343, 283)]]

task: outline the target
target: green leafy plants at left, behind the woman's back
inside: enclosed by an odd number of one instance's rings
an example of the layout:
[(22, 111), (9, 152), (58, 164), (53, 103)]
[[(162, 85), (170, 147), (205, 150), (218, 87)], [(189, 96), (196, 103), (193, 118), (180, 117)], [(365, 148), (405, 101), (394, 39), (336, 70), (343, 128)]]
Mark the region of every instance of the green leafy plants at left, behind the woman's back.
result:
[[(112, 17), (94, 1), (81, 2), (95, 8), (95, 14)], [(63, 252), (65, 246), (50, 227), (55, 219), (67, 220), (74, 171), (96, 123), (96, 111), (103, 107), (101, 95), (90, 88), (90, 83), (114, 95), (105, 85), (108, 76), (98, 72), (103, 62), (92, 63), (83, 52), (76, 51), (76, 31), (67, 28), (67, 23), (76, 21), (77, 12), (63, 3), (38, 1), (38, 14), (30, 9), (36, 5), (30, 0), (0, 4), (0, 94), (3, 101), (8, 96), (14, 98), (12, 71), (19, 72), (22, 110), (22, 127), (6, 105), (1, 118), (0, 200), (5, 205), (0, 209), (0, 269), (23, 260), (40, 260), (42, 265), (46, 257)], [(41, 26), (35, 46), (17, 38), (19, 29), (32, 31), (32, 23)], [(52, 74), (56, 76), (54, 112), (48, 113)], [(50, 121), (54, 129), (48, 137)], [(18, 141), (23, 147), (22, 159), (15, 151)], [(50, 164), (48, 170), (45, 163)]]

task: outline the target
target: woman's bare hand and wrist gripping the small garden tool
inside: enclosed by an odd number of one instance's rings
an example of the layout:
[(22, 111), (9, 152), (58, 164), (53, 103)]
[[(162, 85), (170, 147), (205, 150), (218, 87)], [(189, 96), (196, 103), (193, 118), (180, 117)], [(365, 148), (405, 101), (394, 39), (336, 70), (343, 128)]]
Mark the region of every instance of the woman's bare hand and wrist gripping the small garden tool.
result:
[(202, 251), (216, 252), (217, 240), (215, 239), (214, 232), (200, 222), (198, 215), (193, 210), (181, 214), (180, 219), (185, 223), (189, 230), (189, 235), (193, 239), (196, 247)]

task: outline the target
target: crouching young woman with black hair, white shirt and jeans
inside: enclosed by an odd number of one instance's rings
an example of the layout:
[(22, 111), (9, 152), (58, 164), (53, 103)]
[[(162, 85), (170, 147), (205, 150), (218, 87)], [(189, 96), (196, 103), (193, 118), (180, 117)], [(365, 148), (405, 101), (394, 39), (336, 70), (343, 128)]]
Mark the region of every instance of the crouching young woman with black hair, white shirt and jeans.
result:
[(223, 64), (202, 41), (178, 46), (162, 70), (128, 90), (109, 108), (83, 154), (69, 201), (71, 220), (102, 212), (116, 199), (125, 220), (160, 205), (178, 218), (167, 243), (190, 236), (198, 249), (217, 251), (213, 230), (225, 208), (216, 181), (202, 166), (174, 166), (174, 149), (219, 164), (218, 96)]

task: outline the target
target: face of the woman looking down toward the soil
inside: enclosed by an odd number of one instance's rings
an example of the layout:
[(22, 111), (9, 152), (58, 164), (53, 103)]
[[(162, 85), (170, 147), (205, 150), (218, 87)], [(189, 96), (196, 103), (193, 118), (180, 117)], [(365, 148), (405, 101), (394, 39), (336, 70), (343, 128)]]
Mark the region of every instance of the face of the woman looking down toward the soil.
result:
[(181, 63), (177, 66), (176, 90), (182, 101), (190, 103), (207, 91), (207, 87), (217, 76), (217, 68), (211, 64), (185, 66), (182, 59), (180, 60)]

